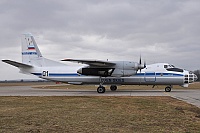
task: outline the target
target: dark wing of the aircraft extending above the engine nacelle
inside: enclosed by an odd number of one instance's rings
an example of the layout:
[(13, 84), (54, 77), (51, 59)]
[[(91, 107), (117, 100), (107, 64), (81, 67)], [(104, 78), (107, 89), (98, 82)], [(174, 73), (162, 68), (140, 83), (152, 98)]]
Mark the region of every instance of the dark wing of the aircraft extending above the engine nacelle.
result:
[(109, 61), (99, 61), (99, 60), (76, 60), (76, 59), (64, 59), (61, 61), (70, 61), (70, 62), (76, 62), (76, 63), (82, 63), (82, 64), (87, 64), (90, 66), (98, 66), (98, 67), (108, 67), (108, 66), (114, 66), (116, 65), (113, 62)]

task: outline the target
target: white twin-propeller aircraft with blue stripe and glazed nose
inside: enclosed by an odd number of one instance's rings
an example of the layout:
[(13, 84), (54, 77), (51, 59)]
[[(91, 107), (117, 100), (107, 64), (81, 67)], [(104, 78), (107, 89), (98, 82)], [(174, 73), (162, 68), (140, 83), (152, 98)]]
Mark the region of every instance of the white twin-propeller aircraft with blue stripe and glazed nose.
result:
[(33, 74), (40, 78), (68, 84), (99, 85), (98, 93), (104, 93), (103, 85), (111, 85), (115, 91), (118, 85), (166, 85), (165, 91), (170, 92), (172, 85), (188, 87), (197, 80), (197, 76), (184, 69), (168, 63), (142, 65), (133, 61), (99, 61), (64, 59), (62, 61), (85, 64), (85, 66), (69, 66), (46, 59), (42, 56), (33, 35), (22, 35), (22, 63), (2, 60), (18, 67), (21, 73)]

